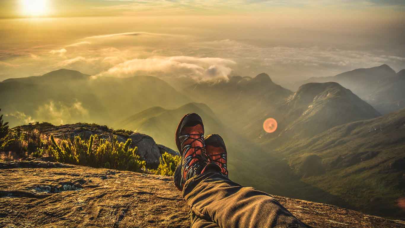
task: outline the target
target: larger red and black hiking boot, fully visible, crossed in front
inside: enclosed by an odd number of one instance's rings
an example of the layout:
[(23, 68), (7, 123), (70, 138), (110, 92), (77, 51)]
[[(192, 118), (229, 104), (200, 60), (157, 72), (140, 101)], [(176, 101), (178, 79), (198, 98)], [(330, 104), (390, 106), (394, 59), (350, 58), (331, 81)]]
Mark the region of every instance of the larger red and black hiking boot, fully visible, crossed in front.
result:
[(198, 114), (183, 116), (176, 129), (175, 141), (181, 153), (181, 161), (175, 170), (174, 182), (181, 191), (188, 179), (201, 174), (207, 166), (204, 125)]

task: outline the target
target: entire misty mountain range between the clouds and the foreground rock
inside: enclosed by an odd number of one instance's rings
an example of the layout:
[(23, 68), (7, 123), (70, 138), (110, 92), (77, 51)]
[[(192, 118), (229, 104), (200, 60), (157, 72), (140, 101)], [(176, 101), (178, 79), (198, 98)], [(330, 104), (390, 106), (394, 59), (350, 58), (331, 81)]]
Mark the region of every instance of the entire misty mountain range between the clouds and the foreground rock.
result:
[[(171, 148), (180, 118), (197, 112), (206, 133), (224, 137), (232, 180), (401, 218), (396, 200), (404, 195), (405, 112), (386, 113), (402, 107), (404, 73), (387, 65), (358, 69), (312, 78), (296, 92), (261, 73), (178, 91), (151, 76), (94, 78), (61, 69), (1, 82), (0, 107), (12, 126), (97, 122), (147, 133)], [(267, 118), (278, 122), (274, 133), (262, 127)]]

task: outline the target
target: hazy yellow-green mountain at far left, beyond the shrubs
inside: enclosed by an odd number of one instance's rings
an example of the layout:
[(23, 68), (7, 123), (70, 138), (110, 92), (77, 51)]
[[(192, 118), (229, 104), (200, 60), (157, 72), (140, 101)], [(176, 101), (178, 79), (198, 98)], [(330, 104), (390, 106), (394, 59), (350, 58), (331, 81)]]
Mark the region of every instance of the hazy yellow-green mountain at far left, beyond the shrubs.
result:
[(151, 76), (92, 78), (78, 71), (58, 70), (42, 76), (0, 83), (0, 107), (13, 121), (54, 124), (113, 124), (123, 113), (153, 106), (174, 108), (190, 100), (166, 82)]

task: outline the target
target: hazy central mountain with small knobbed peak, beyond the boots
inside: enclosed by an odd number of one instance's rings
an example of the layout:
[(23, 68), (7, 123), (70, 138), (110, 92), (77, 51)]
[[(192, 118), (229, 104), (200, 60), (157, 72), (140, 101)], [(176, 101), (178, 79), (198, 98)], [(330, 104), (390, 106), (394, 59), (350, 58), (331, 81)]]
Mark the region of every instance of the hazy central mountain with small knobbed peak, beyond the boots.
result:
[(281, 116), (277, 107), (292, 95), (290, 90), (275, 84), (265, 73), (254, 78), (231, 77), (229, 82), (195, 84), (188, 93), (207, 103), (224, 123), (237, 130), (258, 118)]

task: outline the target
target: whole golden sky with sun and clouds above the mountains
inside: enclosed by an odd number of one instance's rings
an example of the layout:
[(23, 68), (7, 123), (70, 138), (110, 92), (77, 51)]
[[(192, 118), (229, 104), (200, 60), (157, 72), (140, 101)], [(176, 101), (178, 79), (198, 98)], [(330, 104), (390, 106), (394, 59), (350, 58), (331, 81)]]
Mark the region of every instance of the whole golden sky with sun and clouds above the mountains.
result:
[(405, 69), (403, 0), (1, 0), (0, 81), (66, 68), (94, 77), (282, 85)]

